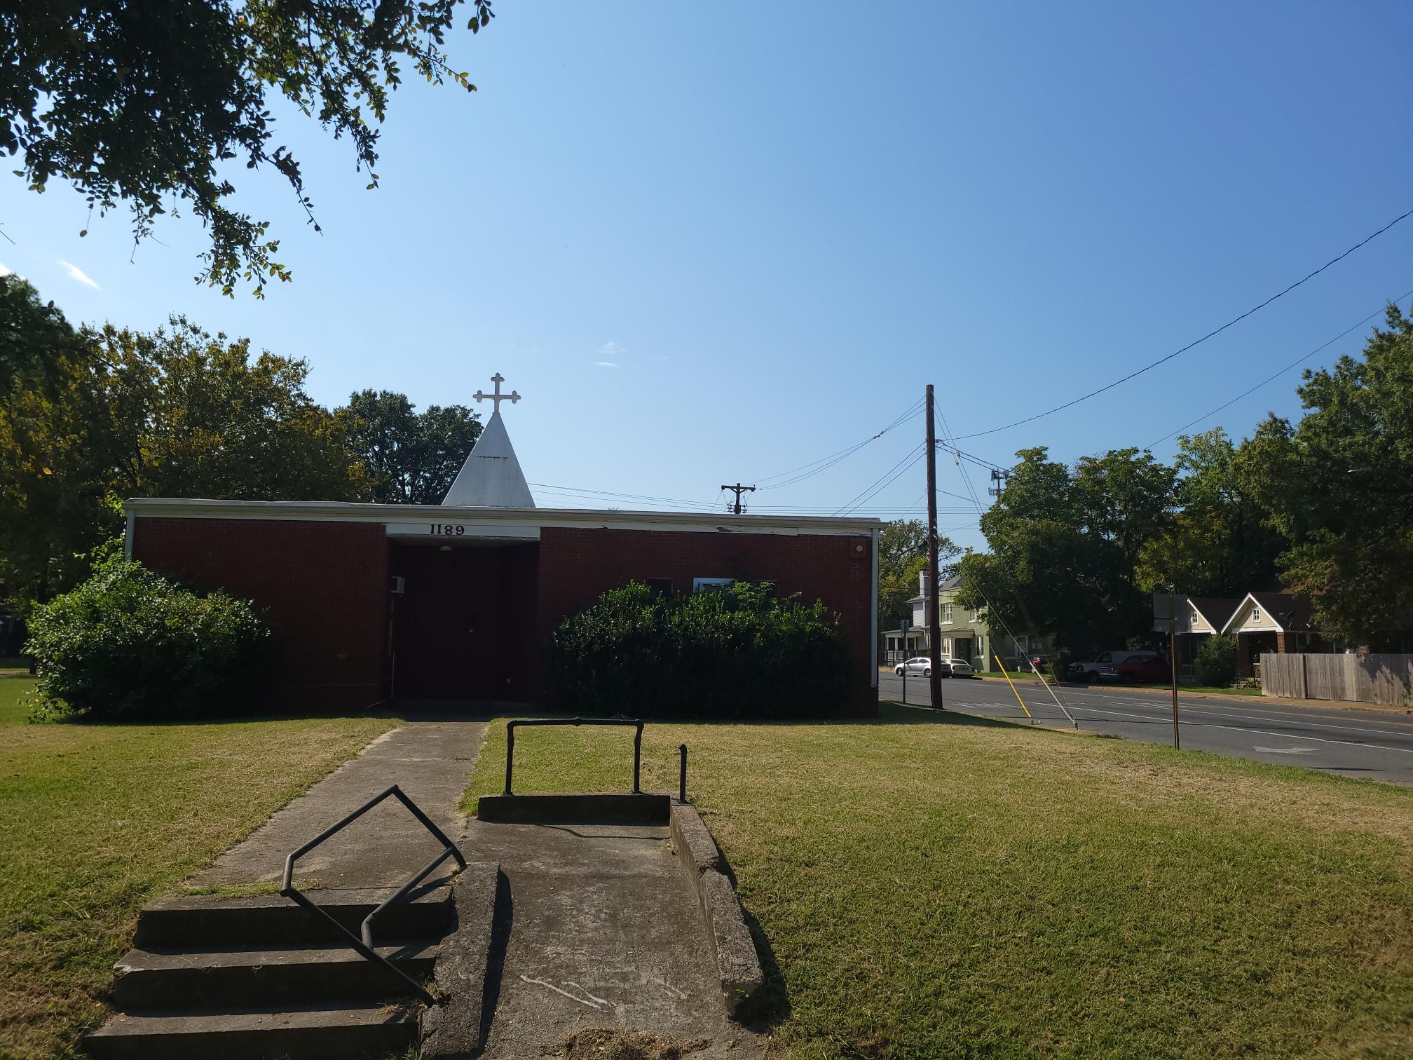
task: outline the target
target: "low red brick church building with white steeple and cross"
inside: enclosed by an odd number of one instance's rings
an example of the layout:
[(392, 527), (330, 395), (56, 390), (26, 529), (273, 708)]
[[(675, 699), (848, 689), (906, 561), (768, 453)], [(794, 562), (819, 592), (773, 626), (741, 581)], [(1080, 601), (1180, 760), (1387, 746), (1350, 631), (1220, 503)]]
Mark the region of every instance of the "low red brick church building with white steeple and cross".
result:
[(136, 497), (127, 551), (266, 609), (290, 707), (534, 704), (544, 637), (606, 589), (750, 579), (839, 613), (873, 709), (877, 520), (538, 509), (500, 382), (476, 393), (496, 411), (442, 505)]

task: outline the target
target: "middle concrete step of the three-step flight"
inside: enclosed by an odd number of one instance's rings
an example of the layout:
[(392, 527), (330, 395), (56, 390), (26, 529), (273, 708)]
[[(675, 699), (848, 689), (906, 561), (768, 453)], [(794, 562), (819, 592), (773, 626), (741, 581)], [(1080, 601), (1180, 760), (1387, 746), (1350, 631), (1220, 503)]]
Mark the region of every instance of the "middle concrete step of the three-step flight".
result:
[[(377, 953), (421, 982), (432, 974), (437, 943), (379, 946)], [(382, 964), (332, 943), (276, 948), (138, 948), (129, 951), (113, 971), (113, 1001), (127, 1011), (263, 1001), (288, 1005), (309, 998), (387, 999), (408, 994), (407, 984)]]

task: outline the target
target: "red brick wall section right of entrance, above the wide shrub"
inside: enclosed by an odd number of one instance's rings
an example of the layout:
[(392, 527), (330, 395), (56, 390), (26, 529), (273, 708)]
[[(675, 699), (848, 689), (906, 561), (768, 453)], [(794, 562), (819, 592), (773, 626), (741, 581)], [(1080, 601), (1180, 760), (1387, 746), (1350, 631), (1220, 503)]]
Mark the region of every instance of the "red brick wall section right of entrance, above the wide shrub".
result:
[(788, 537), (776, 534), (670, 530), (540, 531), (541, 635), (582, 611), (606, 589), (630, 579), (671, 578), (675, 592), (691, 592), (692, 578), (770, 581), (781, 595), (824, 601), (841, 615), (853, 656), (853, 705), (877, 709), (873, 666), (873, 551), (868, 537)]

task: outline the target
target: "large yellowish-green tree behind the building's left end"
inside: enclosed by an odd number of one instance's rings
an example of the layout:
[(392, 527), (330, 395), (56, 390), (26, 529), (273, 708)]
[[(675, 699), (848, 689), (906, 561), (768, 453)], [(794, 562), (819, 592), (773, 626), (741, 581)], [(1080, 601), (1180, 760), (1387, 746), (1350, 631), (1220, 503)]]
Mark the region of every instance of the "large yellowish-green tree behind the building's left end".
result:
[(14, 312), (0, 334), (37, 321), (54, 339), (24, 353), (30, 363), (66, 351), (51, 387), (13, 386), (0, 400), (0, 557), (13, 601), (78, 584), (122, 531), (122, 497), (367, 496), (346, 417), (305, 393), (305, 362), (252, 358), (247, 341), (182, 318), (170, 331), (95, 332), (68, 328), (38, 298), (0, 298), (0, 308)]

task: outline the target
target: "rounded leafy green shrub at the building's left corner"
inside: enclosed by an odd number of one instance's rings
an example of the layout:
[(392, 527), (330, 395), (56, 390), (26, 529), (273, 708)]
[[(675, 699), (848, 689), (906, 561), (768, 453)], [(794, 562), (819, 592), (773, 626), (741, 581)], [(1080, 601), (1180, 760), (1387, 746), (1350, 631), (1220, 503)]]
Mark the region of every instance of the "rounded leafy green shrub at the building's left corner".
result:
[(192, 718), (242, 707), (270, 643), (250, 603), (114, 558), (35, 608), (25, 650), (40, 664), (42, 712)]

